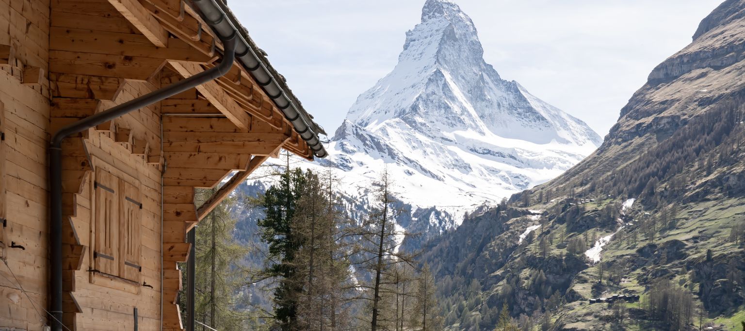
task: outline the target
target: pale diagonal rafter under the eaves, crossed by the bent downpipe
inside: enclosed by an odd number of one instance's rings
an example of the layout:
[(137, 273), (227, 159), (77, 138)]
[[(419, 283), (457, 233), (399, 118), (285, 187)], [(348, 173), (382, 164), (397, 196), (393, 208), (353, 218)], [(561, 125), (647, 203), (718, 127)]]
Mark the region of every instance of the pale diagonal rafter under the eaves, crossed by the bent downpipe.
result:
[[(189, 78), (193, 75), (197, 75), (204, 70), (197, 63), (188, 62), (177, 62), (169, 61), (171, 66), (176, 69), (184, 78)], [(239, 106), (235, 100), (230, 98), (226, 92), (218, 86), (218, 83), (209, 81), (197, 86), (197, 90), (204, 95), (204, 97), (212, 102), (212, 104), (218, 108), (236, 127), (243, 131), (248, 131), (251, 116), (246, 113), (241, 106)]]

